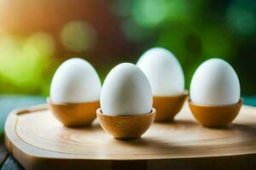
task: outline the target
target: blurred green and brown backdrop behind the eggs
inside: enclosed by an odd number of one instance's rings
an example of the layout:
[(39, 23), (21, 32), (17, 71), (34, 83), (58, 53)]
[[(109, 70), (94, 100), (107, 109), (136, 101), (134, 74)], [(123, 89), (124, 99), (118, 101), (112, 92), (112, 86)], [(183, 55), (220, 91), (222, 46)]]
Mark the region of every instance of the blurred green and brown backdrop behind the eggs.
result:
[(226, 59), (256, 94), (255, 0), (0, 0), (0, 94), (49, 95), (62, 61), (81, 57), (102, 81), (113, 65), (164, 47), (186, 88), (206, 59)]

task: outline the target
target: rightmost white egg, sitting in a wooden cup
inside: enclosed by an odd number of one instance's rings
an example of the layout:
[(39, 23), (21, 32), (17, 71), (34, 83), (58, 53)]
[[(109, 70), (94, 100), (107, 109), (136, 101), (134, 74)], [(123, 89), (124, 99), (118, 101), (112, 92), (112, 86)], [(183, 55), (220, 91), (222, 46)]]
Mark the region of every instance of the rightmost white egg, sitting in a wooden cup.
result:
[(190, 84), (191, 101), (198, 105), (233, 105), (240, 99), (236, 71), (223, 59), (209, 59), (195, 71)]

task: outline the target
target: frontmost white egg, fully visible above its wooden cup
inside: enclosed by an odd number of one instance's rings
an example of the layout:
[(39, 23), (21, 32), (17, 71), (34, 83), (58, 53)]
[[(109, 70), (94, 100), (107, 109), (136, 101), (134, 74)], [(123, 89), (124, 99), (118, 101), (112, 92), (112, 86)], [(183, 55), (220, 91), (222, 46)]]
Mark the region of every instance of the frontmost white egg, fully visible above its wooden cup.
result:
[(102, 113), (110, 116), (147, 114), (152, 109), (147, 77), (136, 65), (116, 65), (102, 85)]

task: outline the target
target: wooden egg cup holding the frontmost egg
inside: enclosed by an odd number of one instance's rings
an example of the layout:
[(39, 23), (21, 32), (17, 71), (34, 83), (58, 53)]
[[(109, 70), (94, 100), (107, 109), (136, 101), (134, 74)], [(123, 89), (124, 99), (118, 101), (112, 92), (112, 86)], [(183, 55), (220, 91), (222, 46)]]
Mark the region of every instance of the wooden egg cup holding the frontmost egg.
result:
[(137, 139), (145, 133), (154, 122), (155, 109), (144, 115), (108, 116), (102, 114), (101, 108), (96, 111), (102, 128), (116, 139)]

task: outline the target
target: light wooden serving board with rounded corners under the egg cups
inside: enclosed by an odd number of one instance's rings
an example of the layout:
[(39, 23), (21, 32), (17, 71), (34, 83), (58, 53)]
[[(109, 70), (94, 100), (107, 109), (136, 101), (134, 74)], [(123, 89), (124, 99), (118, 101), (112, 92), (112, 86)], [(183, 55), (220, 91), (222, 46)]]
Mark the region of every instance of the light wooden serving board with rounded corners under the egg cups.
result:
[(120, 140), (97, 121), (91, 127), (63, 127), (47, 105), (38, 105), (13, 111), (5, 135), (8, 149), (26, 169), (175, 169), (195, 166), (194, 161), (244, 162), (245, 156), (256, 156), (256, 108), (242, 106), (232, 125), (216, 129), (201, 127), (185, 104), (174, 122), (154, 123), (142, 139)]

